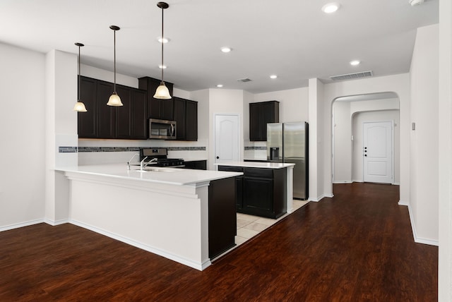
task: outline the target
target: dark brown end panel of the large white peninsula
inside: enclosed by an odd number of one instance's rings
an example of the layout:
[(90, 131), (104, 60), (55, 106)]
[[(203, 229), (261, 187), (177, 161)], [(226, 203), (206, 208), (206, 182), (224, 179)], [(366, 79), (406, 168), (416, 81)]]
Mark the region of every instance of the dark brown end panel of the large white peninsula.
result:
[(235, 246), (235, 178), (210, 181), (208, 194), (209, 258), (212, 259)]

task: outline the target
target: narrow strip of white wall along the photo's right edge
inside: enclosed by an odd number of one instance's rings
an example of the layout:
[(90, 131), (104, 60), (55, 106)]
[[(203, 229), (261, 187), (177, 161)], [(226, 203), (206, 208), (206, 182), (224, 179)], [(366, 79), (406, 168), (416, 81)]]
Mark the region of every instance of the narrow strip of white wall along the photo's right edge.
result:
[(452, 301), (452, 1), (439, 0), (438, 301)]

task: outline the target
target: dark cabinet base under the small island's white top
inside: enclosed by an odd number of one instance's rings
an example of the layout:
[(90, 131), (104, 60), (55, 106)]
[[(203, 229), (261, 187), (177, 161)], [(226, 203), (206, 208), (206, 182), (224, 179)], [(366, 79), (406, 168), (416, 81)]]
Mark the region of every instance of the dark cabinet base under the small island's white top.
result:
[(287, 212), (287, 168), (219, 166), (218, 170), (244, 173), (236, 177), (237, 212), (273, 219)]

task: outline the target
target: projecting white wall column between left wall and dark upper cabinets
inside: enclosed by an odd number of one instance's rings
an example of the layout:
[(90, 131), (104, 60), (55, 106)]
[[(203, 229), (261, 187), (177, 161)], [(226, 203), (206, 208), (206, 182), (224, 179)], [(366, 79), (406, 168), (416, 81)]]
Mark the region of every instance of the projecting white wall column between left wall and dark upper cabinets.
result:
[(59, 153), (59, 147), (77, 146), (77, 56), (52, 50), (45, 65), (45, 222), (69, 219), (69, 181), (56, 167), (75, 166), (76, 152)]

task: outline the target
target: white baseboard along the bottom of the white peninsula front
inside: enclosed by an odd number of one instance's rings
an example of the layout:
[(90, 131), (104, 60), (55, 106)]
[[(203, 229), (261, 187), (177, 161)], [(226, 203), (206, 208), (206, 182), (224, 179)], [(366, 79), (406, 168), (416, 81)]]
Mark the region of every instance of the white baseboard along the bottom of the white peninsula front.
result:
[(71, 224), (75, 224), (78, 227), (83, 227), (84, 229), (89, 229), (90, 231), (95, 231), (98, 234), (102, 234), (104, 236), (107, 236), (109, 238), (113, 238), (116, 239), (117, 241), (121, 241), (124, 243), (127, 243), (131, 246), (135, 246), (136, 248), (141, 248), (142, 250), (147, 250), (150, 253), (154, 253), (156, 255), (160, 255), (162, 257), (165, 257), (169, 260), (173, 260), (179, 263), (182, 263), (183, 265), (189, 266), (189, 267), (193, 267), (196, 270), (204, 270), (207, 267), (209, 267), (212, 263), (210, 262), (210, 260), (206, 260), (204, 262), (194, 262), (192, 260), (186, 259), (186, 258), (181, 258), (178, 255), (174, 255), (171, 253), (167, 253), (165, 250), (160, 250), (158, 248), (154, 248), (153, 246), (148, 246), (147, 244), (138, 242), (138, 241), (134, 241), (131, 238), (127, 238), (118, 234), (114, 234), (111, 233), (109, 231), (105, 231), (104, 229), (99, 229), (97, 227), (93, 227), (89, 224), (84, 224), (83, 222), (78, 222), (76, 220), (71, 219), (69, 221), (69, 223)]

